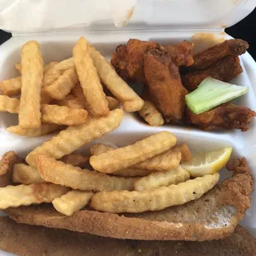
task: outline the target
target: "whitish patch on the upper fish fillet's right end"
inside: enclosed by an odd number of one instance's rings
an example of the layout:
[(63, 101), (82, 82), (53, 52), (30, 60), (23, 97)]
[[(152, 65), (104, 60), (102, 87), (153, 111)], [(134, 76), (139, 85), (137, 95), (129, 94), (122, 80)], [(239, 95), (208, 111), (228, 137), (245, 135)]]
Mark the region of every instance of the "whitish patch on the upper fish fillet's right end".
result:
[(236, 209), (234, 206), (223, 206), (218, 209), (211, 220), (205, 225), (207, 230), (210, 229), (220, 229), (230, 226), (230, 219), (234, 216)]

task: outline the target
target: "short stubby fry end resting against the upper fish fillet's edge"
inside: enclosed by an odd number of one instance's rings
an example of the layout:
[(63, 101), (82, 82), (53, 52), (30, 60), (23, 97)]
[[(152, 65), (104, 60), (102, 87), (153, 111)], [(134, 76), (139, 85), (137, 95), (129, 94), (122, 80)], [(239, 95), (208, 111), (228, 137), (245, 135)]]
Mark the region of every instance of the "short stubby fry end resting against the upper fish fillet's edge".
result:
[(52, 201), (55, 209), (66, 216), (72, 216), (91, 200), (92, 192), (71, 190)]

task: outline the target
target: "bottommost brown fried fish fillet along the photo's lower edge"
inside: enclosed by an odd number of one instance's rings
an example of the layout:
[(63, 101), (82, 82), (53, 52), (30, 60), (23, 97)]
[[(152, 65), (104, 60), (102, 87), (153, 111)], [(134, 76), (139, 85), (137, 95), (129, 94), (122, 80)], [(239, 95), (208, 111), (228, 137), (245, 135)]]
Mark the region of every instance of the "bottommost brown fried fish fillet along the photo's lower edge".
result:
[(241, 226), (225, 239), (201, 243), (137, 241), (102, 238), (69, 230), (17, 224), (0, 217), (0, 249), (21, 256), (249, 256), (256, 254), (256, 239)]

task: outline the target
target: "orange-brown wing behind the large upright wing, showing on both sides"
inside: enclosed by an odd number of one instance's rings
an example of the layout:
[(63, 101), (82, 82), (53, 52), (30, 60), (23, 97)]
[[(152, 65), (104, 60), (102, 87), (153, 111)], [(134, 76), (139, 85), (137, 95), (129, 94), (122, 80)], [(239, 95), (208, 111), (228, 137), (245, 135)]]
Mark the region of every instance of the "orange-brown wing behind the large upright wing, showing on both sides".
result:
[[(126, 80), (145, 82), (145, 73), (143, 69), (143, 58), (145, 52), (160, 48), (159, 44), (153, 41), (142, 41), (130, 39), (127, 45), (119, 45), (116, 52), (111, 55), (111, 64), (116, 72)], [(194, 44), (183, 41), (178, 45), (166, 46), (173, 63), (178, 66), (193, 64), (192, 48)]]

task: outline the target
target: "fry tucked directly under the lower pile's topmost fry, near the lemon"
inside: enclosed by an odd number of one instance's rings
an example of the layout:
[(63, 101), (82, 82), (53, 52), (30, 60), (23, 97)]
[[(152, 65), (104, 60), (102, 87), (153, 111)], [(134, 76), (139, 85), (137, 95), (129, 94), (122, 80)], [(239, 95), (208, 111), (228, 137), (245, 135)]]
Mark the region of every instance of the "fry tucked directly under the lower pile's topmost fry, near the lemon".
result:
[(156, 155), (151, 159), (146, 159), (145, 161), (135, 164), (135, 168), (145, 168), (148, 170), (164, 171), (170, 168), (176, 168), (182, 159), (182, 154), (180, 152), (173, 152), (173, 149)]

